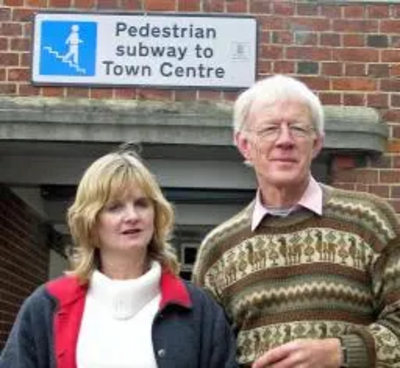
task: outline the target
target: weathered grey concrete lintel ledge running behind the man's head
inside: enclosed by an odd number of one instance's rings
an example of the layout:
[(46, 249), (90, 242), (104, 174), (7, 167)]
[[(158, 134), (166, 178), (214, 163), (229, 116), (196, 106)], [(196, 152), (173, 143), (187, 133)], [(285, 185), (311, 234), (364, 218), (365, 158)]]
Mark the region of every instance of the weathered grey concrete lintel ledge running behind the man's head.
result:
[[(388, 129), (376, 110), (325, 107), (325, 149), (382, 153)], [(57, 98), (0, 98), (0, 141), (232, 145), (232, 105)]]

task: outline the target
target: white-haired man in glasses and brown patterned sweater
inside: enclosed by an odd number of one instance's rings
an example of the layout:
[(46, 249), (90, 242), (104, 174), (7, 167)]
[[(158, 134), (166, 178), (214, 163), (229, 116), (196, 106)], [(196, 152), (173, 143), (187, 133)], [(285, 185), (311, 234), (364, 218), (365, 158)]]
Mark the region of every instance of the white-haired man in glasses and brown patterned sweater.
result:
[(206, 237), (194, 280), (231, 318), (243, 367), (400, 367), (400, 226), (378, 197), (313, 179), (323, 124), (317, 96), (290, 77), (235, 103), (258, 191)]

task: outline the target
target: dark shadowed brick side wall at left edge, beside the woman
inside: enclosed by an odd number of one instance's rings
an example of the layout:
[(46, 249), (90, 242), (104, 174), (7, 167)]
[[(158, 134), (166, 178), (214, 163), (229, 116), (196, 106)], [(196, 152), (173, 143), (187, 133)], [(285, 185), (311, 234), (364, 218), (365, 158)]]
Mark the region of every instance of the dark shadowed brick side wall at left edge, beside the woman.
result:
[(29, 208), (0, 186), (0, 350), (22, 301), (47, 280), (45, 235)]

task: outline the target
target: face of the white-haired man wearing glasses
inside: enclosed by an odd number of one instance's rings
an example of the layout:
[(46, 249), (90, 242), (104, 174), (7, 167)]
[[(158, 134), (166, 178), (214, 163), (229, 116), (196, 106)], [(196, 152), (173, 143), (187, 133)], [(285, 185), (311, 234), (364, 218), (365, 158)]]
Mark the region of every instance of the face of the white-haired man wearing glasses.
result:
[(312, 159), (323, 144), (303, 102), (255, 102), (236, 144), (254, 166), (260, 187), (296, 188), (308, 181)]

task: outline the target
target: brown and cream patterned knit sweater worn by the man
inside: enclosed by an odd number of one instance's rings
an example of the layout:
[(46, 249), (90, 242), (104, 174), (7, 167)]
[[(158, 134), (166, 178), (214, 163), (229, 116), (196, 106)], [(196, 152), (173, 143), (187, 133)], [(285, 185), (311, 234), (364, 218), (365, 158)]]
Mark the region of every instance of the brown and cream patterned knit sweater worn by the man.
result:
[(400, 225), (367, 193), (321, 185), (323, 215), (267, 216), (252, 202), (200, 247), (194, 281), (237, 330), (238, 361), (300, 338), (340, 337), (350, 367), (400, 367)]

